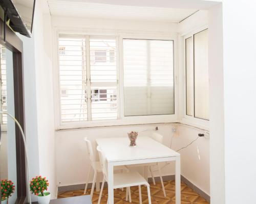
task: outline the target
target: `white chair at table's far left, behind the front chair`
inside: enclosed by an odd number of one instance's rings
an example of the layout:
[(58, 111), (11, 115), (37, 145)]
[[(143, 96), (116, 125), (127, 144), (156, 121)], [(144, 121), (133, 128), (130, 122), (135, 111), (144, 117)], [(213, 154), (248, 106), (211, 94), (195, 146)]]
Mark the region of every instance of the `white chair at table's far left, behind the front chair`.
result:
[[(101, 167), (101, 165), (100, 165), (100, 162), (99, 162), (99, 161), (96, 161), (96, 159), (95, 159), (91, 141), (88, 140), (87, 137), (84, 138), (83, 140), (86, 142), (87, 150), (88, 150), (88, 154), (89, 154), (89, 158), (90, 158), (90, 162), (91, 162), (91, 165), (90, 165), (89, 170), (88, 170), (88, 175), (87, 175), (86, 188), (84, 188), (83, 194), (86, 194), (87, 187), (88, 187), (88, 183), (89, 183), (89, 178), (90, 178), (91, 169), (93, 168), (93, 170), (94, 170), (94, 176), (93, 176), (93, 183), (92, 183), (92, 190), (91, 190), (91, 198), (92, 198), (92, 197), (93, 197), (93, 192), (94, 192), (95, 183), (96, 183), (96, 179), (97, 179), (97, 174), (98, 174), (99, 172), (102, 172), (102, 167)], [(126, 171), (129, 171), (129, 170), (128, 170), (126, 167), (124, 167), (124, 166), (115, 167), (115, 170), (121, 170), (121, 171), (122, 171), (123, 169), (126, 170)], [(99, 184), (98, 184), (98, 185), (99, 185)]]

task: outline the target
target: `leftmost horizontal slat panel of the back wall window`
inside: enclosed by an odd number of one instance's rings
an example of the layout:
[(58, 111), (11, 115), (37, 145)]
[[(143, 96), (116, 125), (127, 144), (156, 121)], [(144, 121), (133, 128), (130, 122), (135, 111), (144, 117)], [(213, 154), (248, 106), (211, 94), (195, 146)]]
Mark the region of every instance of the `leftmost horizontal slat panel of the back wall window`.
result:
[(61, 122), (87, 121), (86, 39), (59, 35)]

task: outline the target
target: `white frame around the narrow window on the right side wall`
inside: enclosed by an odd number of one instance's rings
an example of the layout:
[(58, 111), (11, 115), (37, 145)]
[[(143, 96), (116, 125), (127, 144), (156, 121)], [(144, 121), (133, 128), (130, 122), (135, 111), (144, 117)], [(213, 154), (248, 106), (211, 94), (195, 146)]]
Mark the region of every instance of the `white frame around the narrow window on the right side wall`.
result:
[[(180, 69), (180, 72), (181, 72), (182, 79), (181, 79), (181, 84), (180, 84), (180, 87), (181, 87), (180, 93), (182, 93), (182, 94), (181, 94), (181, 98), (180, 98), (180, 104), (181, 104), (181, 108), (180, 108), (181, 120), (180, 120), (180, 122), (209, 130), (209, 120), (204, 120), (204, 119), (200, 119), (200, 118), (195, 118), (194, 116), (186, 115), (186, 39), (189, 37), (192, 37), (192, 40), (194, 42), (194, 35), (201, 31), (204, 31), (206, 29), (208, 29), (208, 25), (204, 25), (204, 26), (199, 27), (193, 31), (190, 31), (188, 33), (181, 35), (181, 46), (180, 47), (182, 48), (182, 52), (181, 52), (181, 54), (182, 54), (182, 59), (181, 59), (182, 60), (182, 62), (181, 62), (182, 69)], [(194, 99), (194, 102), (195, 102), (195, 99)], [(194, 110), (194, 114), (195, 114), (195, 110)]]

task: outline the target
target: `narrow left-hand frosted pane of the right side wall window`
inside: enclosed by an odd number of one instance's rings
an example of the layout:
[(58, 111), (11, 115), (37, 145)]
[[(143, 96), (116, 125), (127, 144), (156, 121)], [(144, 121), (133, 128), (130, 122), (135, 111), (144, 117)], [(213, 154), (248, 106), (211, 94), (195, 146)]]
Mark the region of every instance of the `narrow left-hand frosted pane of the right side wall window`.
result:
[(186, 115), (194, 116), (193, 40), (186, 39)]

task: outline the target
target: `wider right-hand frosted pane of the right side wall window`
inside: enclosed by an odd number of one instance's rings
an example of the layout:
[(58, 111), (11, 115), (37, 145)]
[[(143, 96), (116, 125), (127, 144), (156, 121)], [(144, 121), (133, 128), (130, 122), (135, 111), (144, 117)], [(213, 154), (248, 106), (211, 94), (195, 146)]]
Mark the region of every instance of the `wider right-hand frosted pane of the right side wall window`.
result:
[(194, 35), (195, 117), (209, 120), (208, 30)]

